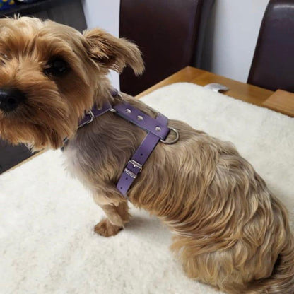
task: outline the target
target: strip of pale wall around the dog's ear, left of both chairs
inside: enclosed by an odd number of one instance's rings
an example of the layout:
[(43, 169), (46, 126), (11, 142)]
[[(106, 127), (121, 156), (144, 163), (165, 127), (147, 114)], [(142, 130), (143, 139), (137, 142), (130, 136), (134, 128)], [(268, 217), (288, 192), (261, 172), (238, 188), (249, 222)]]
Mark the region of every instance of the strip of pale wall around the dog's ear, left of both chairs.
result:
[[(119, 36), (119, 0), (83, 0), (83, 11), (88, 28), (103, 28), (114, 36)], [(119, 89), (119, 75), (110, 73), (112, 85)]]

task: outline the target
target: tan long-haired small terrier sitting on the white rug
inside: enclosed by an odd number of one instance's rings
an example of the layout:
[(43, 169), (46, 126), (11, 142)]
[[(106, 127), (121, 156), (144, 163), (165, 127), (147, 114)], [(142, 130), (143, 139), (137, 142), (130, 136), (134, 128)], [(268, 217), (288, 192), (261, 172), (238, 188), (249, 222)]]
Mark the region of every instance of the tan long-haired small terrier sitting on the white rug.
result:
[(231, 143), (170, 120), (180, 140), (158, 143), (128, 197), (119, 192), (117, 181), (146, 131), (114, 112), (78, 124), (93, 105), (122, 100), (157, 116), (127, 94), (112, 94), (107, 73), (125, 66), (143, 72), (138, 47), (103, 30), (82, 34), (50, 20), (1, 19), (1, 137), (32, 151), (64, 148), (68, 169), (107, 216), (96, 233), (119, 233), (130, 220), (129, 200), (172, 230), (171, 248), (190, 278), (226, 293), (293, 294), (286, 208)]

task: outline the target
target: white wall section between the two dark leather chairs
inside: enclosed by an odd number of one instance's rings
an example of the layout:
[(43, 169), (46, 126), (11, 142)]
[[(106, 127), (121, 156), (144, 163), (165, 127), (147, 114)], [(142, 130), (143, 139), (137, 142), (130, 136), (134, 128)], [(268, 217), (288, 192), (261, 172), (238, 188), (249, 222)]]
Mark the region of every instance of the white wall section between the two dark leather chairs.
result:
[(246, 82), (268, 3), (269, 0), (216, 0), (201, 67)]

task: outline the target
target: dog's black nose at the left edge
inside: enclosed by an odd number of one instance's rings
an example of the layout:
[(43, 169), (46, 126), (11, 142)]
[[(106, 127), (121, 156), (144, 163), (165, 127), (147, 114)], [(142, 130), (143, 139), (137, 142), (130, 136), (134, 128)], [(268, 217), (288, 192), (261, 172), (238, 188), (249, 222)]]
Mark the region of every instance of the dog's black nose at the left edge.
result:
[(25, 100), (25, 94), (18, 89), (0, 89), (0, 110), (10, 112)]

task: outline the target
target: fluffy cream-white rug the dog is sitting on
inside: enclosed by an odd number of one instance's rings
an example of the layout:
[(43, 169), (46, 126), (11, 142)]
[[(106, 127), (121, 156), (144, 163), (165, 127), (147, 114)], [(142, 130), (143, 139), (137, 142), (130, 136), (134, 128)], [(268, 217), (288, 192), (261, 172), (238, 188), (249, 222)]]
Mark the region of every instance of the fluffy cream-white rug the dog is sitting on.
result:
[[(294, 216), (294, 119), (189, 83), (142, 99), (171, 119), (235, 143)], [(189, 280), (168, 247), (171, 234), (131, 209), (126, 230), (93, 233), (102, 218), (88, 192), (48, 151), (0, 177), (0, 293), (217, 293)]]

